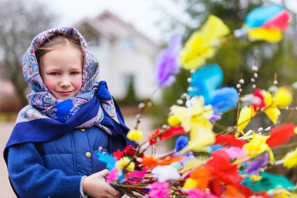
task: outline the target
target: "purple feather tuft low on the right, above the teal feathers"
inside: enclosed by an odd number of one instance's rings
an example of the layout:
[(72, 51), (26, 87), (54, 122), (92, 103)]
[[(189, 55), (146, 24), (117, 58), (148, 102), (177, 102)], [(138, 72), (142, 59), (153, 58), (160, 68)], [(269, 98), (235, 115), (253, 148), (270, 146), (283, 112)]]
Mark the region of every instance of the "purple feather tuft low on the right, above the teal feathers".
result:
[(248, 161), (246, 164), (246, 172), (247, 174), (255, 174), (259, 175), (258, 169), (265, 166), (268, 163), (269, 160), (269, 153), (264, 152), (261, 155), (256, 156), (251, 161)]

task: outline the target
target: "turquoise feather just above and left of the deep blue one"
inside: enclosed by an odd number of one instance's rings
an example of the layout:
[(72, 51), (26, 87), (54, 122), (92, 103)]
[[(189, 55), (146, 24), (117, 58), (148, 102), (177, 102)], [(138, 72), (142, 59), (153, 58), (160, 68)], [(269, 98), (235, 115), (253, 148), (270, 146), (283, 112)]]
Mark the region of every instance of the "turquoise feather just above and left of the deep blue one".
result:
[(218, 89), (223, 82), (223, 71), (218, 64), (205, 65), (192, 75), (191, 87), (193, 91), (189, 96), (203, 96), (205, 102), (209, 102), (210, 94)]

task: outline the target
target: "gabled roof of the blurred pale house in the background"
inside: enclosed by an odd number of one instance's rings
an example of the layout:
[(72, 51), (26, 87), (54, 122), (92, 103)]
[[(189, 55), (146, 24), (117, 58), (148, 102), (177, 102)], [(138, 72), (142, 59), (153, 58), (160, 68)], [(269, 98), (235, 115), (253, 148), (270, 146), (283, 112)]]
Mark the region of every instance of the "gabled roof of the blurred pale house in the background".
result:
[(121, 26), (122, 28), (126, 29), (127, 31), (131, 32), (133, 35), (143, 39), (145, 42), (147, 42), (149, 45), (152, 45), (156, 48), (159, 48), (159, 45), (156, 44), (155, 42), (153, 42), (151, 39), (149, 39), (147, 36), (145, 36), (144, 34), (140, 33), (139, 31), (137, 31), (133, 25), (124, 22), (123, 20), (121, 20), (119, 17), (117, 17), (116, 15), (112, 14), (109, 11), (104, 11), (102, 12), (99, 16), (93, 18), (93, 19), (86, 19), (83, 20), (80, 24), (88, 24), (89, 26), (91, 26), (94, 30), (98, 31), (100, 34), (102, 34), (103, 36), (106, 36), (107, 38), (116, 38), (119, 35), (117, 34), (117, 31), (112, 30), (110, 27), (108, 27), (108, 25), (106, 25), (103, 20), (105, 18), (109, 18), (112, 19), (114, 22), (116, 22), (119, 26)]

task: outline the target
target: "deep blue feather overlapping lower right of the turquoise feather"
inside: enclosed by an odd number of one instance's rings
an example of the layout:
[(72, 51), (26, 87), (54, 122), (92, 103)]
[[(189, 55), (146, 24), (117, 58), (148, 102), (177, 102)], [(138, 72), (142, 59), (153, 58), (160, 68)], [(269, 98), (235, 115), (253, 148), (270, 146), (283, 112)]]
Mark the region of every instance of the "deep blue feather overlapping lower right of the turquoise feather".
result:
[(211, 93), (209, 102), (215, 112), (225, 112), (236, 108), (238, 102), (237, 90), (233, 87), (224, 87)]

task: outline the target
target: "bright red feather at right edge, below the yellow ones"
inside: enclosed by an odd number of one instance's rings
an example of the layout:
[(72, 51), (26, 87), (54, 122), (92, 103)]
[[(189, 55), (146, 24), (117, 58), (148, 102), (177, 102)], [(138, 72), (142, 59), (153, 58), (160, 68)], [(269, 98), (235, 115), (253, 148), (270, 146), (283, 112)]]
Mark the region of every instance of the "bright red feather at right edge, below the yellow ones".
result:
[(270, 138), (266, 140), (266, 144), (270, 147), (276, 147), (289, 142), (295, 135), (295, 125), (293, 123), (283, 124), (271, 130)]

